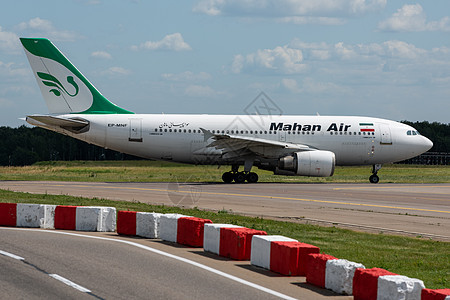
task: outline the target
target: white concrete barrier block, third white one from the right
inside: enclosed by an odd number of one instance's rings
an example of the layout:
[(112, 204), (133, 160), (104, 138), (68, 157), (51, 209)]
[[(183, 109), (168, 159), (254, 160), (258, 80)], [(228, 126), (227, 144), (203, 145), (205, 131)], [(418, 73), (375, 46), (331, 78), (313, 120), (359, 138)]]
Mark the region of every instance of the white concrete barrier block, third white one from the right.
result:
[[(297, 240), (281, 235), (254, 235), (250, 254), (252, 265), (271, 270), (272, 242), (297, 242)], [(273, 254), (273, 256), (275, 258), (278, 254)]]

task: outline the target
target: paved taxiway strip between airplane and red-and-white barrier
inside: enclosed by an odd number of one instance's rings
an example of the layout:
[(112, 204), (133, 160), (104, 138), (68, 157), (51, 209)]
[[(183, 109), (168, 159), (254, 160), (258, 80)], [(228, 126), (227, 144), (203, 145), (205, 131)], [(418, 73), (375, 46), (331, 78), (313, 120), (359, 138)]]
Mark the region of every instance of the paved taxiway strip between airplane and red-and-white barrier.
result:
[(0, 188), (196, 206), (450, 240), (450, 184), (195, 184), (2, 181)]

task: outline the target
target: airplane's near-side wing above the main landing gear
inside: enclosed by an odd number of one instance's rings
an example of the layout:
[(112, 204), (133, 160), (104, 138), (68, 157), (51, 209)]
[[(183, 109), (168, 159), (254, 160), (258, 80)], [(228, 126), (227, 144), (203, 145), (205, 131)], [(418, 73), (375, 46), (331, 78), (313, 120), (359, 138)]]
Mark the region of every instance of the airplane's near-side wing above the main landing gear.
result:
[(248, 155), (278, 157), (280, 152), (286, 152), (286, 150), (292, 150), (292, 152), (316, 150), (308, 145), (232, 134), (213, 134), (208, 130), (200, 129), (205, 135), (205, 140), (210, 138), (213, 140), (207, 147), (222, 150), (222, 153), (227, 158)]

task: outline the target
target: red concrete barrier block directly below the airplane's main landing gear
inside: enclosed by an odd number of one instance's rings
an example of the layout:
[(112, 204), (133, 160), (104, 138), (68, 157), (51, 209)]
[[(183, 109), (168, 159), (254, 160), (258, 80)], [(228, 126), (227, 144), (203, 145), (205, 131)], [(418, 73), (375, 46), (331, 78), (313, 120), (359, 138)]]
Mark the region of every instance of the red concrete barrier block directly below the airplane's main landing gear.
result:
[(219, 255), (236, 260), (250, 260), (252, 237), (267, 232), (250, 228), (221, 228)]

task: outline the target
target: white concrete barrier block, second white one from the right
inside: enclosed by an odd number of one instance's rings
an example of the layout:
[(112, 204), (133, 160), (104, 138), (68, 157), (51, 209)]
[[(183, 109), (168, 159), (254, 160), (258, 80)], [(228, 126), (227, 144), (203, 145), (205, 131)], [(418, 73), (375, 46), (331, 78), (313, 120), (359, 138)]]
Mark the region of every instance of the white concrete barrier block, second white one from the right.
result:
[(358, 268), (365, 269), (364, 265), (346, 259), (327, 260), (325, 288), (338, 294), (353, 295), (353, 277)]

